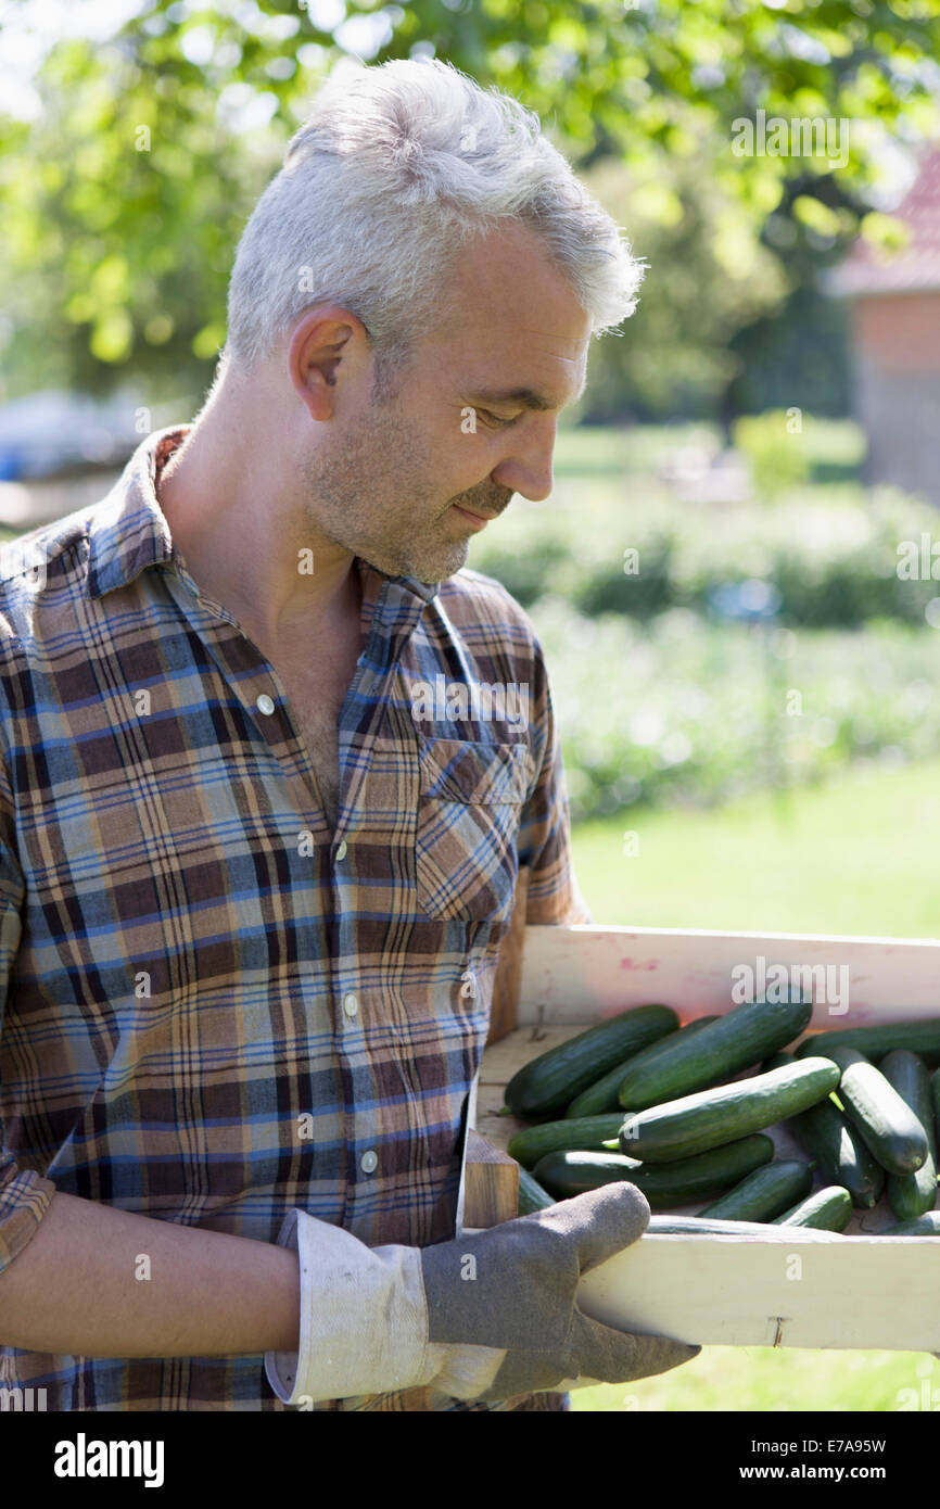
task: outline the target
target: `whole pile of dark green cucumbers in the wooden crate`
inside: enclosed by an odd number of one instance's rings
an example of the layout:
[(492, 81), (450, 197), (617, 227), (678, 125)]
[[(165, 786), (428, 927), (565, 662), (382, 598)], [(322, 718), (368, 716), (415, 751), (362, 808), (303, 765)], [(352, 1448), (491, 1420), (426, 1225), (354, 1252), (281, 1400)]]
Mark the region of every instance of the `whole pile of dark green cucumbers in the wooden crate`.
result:
[[(653, 1212), (711, 1200), (697, 1216), (653, 1215), (652, 1233), (845, 1231), (884, 1197), (884, 1234), (940, 1236), (940, 1017), (819, 1032), (785, 1053), (810, 1016), (791, 997), (682, 1028), (671, 1007), (634, 1007), (531, 1059), (505, 1086), (507, 1114), (533, 1123), (508, 1142), (519, 1215), (629, 1180)], [(777, 1123), (806, 1160), (776, 1157)]]

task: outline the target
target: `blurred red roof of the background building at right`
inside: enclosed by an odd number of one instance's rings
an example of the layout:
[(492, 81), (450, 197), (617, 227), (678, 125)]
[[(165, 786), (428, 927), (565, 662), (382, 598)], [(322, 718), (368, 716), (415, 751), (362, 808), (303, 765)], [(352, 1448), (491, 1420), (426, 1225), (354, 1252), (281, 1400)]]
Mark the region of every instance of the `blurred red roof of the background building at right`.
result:
[(887, 254), (859, 237), (828, 276), (831, 293), (856, 297), (940, 288), (940, 145), (923, 151), (917, 177), (892, 214), (910, 226), (908, 244)]

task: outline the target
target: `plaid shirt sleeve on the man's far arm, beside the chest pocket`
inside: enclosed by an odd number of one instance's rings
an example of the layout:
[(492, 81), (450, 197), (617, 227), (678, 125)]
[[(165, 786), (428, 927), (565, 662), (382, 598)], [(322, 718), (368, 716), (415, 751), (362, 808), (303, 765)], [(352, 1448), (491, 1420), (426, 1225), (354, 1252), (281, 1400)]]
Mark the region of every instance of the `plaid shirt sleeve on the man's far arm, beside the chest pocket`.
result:
[(519, 865), (530, 868), (527, 924), (591, 922), (572, 857), (570, 815), (545, 653), (534, 638), (534, 685), (530, 691), (533, 750), (540, 761), (519, 827)]

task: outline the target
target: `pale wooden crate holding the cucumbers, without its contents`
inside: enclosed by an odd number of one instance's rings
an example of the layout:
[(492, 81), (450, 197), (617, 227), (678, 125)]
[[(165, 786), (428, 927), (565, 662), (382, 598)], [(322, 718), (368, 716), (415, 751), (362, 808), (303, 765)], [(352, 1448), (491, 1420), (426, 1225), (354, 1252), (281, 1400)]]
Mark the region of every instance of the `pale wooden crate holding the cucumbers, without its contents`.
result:
[[(732, 970), (757, 973), (759, 958), (845, 967), (830, 978), (848, 985), (846, 997), (815, 994), (810, 1032), (940, 1016), (940, 942), (527, 927), (516, 1026), (483, 1056), (477, 1130), (505, 1148), (522, 1126), (496, 1114), (505, 1083), (555, 1043), (653, 1000), (682, 1023), (730, 1011)], [(785, 1132), (770, 1135), (783, 1156), (801, 1151)], [(856, 1212), (845, 1236), (643, 1236), (585, 1275), (579, 1304), (622, 1329), (702, 1345), (940, 1352), (940, 1240), (878, 1236), (892, 1221), (881, 1203)]]

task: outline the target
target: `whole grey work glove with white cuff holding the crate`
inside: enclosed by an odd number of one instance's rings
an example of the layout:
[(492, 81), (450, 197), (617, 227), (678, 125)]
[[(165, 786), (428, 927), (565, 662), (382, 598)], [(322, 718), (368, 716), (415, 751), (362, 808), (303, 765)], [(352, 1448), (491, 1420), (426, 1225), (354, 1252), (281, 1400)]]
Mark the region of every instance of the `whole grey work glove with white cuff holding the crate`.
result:
[(368, 1248), (293, 1210), (279, 1242), (300, 1259), (300, 1345), (297, 1355), (267, 1354), (272, 1388), (303, 1405), (433, 1384), (492, 1403), (679, 1367), (702, 1349), (614, 1331), (575, 1304), (581, 1275), (638, 1240), (647, 1221), (628, 1183), (429, 1248)]

